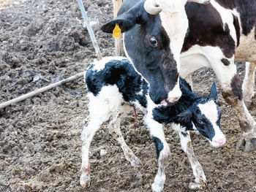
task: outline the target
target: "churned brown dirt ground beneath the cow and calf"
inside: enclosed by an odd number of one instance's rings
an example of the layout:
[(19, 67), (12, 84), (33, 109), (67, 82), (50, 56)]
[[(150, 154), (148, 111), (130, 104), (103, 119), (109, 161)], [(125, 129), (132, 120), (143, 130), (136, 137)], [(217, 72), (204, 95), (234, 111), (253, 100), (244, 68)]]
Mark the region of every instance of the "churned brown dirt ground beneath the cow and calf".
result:
[[(113, 17), (110, 0), (83, 4), (100, 23)], [(95, 35), (102, 55), (113, 55), (111, 35)], [(0, 1), (0, 103), (83, 72), (95, 58), (77, 1)], [(243, 77), (242, 64), (238, 70)], [(195, 91), (208, 94), (214, 80), (210, 69), (201, 69), (193, 76)], [(137, 129), (132, 114), (121, 124), (124, 139), (142, 164), (131, 166), (102, 127), (91, 144), (91, 187), (80, 187), (80, 132), (87, 103), (80, 78), (0, 110), (0, 191), (151, 191), (157, 155), (142, 114)], [(204, 191), (256, 191), (256, 152), (236, 150), (238, 119), (222, 96), (217, 103), (225, 146), (213, 148), (200, 135), (192, 139), (207, 177)], [(256, 115), (255, 98), (250, 112)], [(171, 155), (164, 191), (189, 191), (194, 177), (187, 156), (170, 128), (165, 134)]]

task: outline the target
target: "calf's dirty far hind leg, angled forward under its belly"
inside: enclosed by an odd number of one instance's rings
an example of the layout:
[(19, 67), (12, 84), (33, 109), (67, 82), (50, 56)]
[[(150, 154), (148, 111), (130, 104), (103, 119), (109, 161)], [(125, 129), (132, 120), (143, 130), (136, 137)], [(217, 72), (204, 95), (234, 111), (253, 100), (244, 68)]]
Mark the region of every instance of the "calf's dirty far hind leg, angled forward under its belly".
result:
[(125, 157), (132, 164), (132, 166), (138, 165), (141, 163), (140, 159), (137, 158), (132, 150), (127, 146), (127, 143), (121, 134), (120, 123), (121, 117), (114, 117), (108, 125), (108, 130), (110, 131), (110, 134), (119, 142), (122, 150), (124, 151)]

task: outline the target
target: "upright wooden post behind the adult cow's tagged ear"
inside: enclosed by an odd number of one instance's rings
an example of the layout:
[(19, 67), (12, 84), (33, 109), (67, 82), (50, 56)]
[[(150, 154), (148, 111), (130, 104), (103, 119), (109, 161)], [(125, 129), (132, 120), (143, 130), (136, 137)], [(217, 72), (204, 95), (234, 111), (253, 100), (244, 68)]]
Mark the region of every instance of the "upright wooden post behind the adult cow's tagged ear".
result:
[[(121, 7), (121, 4), (124, 0), (113, 0), (113, 7), (114, 7), (114, 18), (117, 16), (117, 12)], [(124, 56), (124, 46), (123, 46), (123, 38), (116, 37), (115, 38), (115, 53), (116, 56)]]

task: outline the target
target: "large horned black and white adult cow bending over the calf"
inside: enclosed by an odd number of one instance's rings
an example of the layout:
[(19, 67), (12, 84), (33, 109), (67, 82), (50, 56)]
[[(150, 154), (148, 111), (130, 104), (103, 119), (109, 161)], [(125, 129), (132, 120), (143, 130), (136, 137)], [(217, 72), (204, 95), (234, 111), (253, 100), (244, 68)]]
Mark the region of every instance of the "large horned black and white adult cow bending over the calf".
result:
[(116, 23), (124, 32), (127, 57), (148, 80), (156, 104), (168, 104), (173, 95), (178, 96), (178, 88), (171, 93), (177, 73), (189, 79), (195, 70), (211, 67), (222, 96), (238, 116), (242, 135), (237, 148), (256, 148), (256, 122), (244, 104), (234, 63), (235, 58), (251, 62), (243, 85), (249, 101), (256, 66), (256, 0), (211, 0), (210, 4), (126, 0), (118, 17), (105, 23), (102, 31), (111, 33)]

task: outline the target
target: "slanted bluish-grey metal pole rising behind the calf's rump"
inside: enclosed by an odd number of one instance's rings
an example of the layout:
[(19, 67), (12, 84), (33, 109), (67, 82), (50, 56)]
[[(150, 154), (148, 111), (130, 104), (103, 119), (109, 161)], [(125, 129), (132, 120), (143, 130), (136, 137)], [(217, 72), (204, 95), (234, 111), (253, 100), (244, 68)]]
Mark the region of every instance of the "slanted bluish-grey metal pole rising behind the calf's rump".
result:
[(92, 44), (94, 45), (94, 50), (97, 53), (98, 58), (102, 59), (102, 54), (100, 53), (99, 46), (98, 46), (97, 41), (95, 39), (94, 31), (92, 31), (92, 28), (91, 28), (91, 26), (89, 24), (89, 19), (88, 19), (87, 15), (86, 15), (86, 10), (84, 9), (83, 3), (82, 3), (81, 0), (78, 0), (78, 6), (79, 6), (79, 8), (80, 8), (80, 10), (82, 12), (84, 23), (86, 23), (86, 28), (89, 31), (89, 35), (91, 37)]

